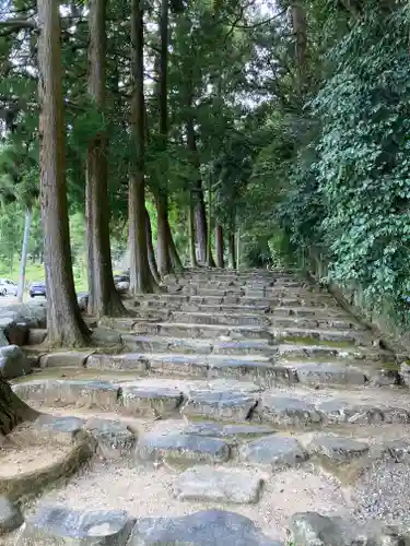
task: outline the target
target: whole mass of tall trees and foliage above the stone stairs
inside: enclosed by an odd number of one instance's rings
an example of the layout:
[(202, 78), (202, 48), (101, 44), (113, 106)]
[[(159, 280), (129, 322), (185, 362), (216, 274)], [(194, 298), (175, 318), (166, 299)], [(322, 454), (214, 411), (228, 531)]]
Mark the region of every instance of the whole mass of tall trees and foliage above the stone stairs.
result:
[(30, 211), (49, 341), (87, 343), (80, 256), (89, 311), (126, 312), (126, 248), (132, 293), (188, 264), (319, 257), (401, 320), (409, 17), (405, 0), (3, 3), (0, 257)]

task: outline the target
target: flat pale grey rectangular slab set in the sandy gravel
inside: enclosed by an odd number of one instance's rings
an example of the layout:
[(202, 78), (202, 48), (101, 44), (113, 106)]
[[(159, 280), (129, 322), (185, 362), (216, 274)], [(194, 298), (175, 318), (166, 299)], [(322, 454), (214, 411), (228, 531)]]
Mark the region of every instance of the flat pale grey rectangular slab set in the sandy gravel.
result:
[(262, 487), (263, 478), (257, 472), (198, 465), (179, 475), (174, 496), (179, 500), (253, 505)]

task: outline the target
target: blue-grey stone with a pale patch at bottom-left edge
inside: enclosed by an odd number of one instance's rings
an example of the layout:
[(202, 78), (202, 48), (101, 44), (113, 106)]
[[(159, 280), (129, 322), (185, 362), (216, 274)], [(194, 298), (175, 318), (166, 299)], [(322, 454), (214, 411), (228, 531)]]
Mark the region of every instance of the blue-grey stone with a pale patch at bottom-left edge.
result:
[(124, 510), (46, 506), (26, 521), (16, 546), (126, 546), (133, 524)]

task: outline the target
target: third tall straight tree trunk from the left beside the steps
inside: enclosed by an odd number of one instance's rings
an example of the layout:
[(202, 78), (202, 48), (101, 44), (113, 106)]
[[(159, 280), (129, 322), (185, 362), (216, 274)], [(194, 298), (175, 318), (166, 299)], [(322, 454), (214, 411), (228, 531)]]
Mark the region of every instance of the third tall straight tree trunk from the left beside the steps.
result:
[(143, 70), (143, 0), (131, 0), (131, 135), (134, 146), (128, 193), (130, 290), (153, 290), (148, 261), (145, 219), (145, 116)]

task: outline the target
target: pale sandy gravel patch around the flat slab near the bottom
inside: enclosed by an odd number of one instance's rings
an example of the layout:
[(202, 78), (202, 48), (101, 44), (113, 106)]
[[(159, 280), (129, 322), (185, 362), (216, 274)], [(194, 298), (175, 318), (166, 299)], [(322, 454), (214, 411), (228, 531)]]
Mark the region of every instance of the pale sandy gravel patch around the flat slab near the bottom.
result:
[[(266, 487), (257, 505), (184, 502), (173, 498), (180, 468), (156, 471), (132, 464), (96, 464), (62, 488), (44, 495), (38, 503), (57, 503), (77, 509), (122, 509), (134, 517), (184, 515), (215, 508), (239, 512), (255, 521), (272, 538), (285, 538), (290, 517), (312, 510), (324, 514), (350, 512), (342, 488), (332, 477), (304, 468), (266, 475)], [(31, 507), (31, 510), (35, 506)]]

